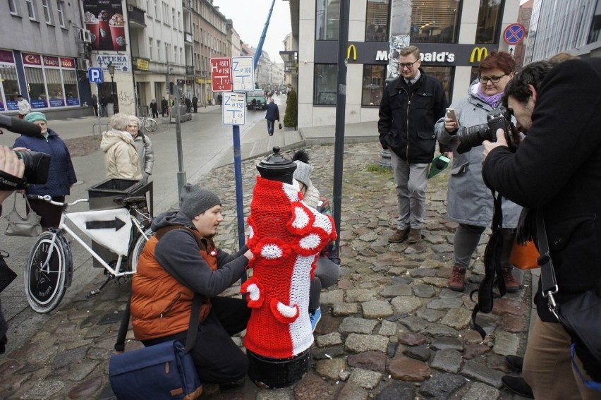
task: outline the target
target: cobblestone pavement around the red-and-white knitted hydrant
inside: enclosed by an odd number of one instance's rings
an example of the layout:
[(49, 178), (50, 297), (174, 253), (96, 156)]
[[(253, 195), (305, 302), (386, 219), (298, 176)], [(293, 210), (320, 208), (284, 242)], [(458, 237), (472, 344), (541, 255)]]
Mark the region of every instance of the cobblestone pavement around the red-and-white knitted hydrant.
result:
[[(334, 146), (314, 146), (308, 152), (313, 183), (332, 199)], [(501, 377), (509, 373), (504, 355), (522, 354), (526, 345), (530, 274), (526, 289), (497, 299), (492, 313), (480, 315), (480, 325), (489, 333), (482, 341), (469, 328), (469, 291), (482, 278), (485, 238), (468, 272), (466, 292), (446, 289), (456, 228), (445, 218), (448, 171), (428, 186), (423, 241), (391, 244), (387, 238), (396, 226), (396, 195), (391, 173), (377, 168), (379, 159), (377, 143), (346, 145), (341, 277), (322, 292), (323, 316), (310, 372), (277, 390), (259, 389), (248, 379), (243, 389), (225, 393), (205, 385), (203, 399), (521, 399), (502, 389)], [(243, 162), (245, 215), (259, 161)], [(215, 241), (234, 250), (232, 167), (214, 170), (202, 184), (219, 193), (224, 205), (225, 220)], [(99, 274), (74, 301), (55, 310), (27, 345), (0, 356), (0, 399), (102, 398), (119, 329), (116, 311), (128, 296), (128, 285), (109, 285), (85, 300), (86, 291), (103, 280)], [(237, 287), (229, 290), (237, 293)], [(131, 331), (128, 338), (133, 339)], [(240, 338), (234, 340), (241, 344)], [(132, 340), (126, 350), (139, 346)]]

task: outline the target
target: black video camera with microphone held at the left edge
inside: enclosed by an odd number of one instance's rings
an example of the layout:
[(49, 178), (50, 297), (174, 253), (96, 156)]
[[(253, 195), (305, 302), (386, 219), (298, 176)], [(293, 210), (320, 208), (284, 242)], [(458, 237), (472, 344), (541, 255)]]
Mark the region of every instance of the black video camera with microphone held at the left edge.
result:
[[(8, 129), (14, 133), (20, 133), (25, 136), (39, 136), (42, 133), (42, 128), (35, 123), (22, 121), (11, 116), (0, 114), (0, 128)], [(2, 134), (0, 130), (0, 134)], [(44, 184), (48, 179), (48, 169), (50, 168), (50, 155), (42, 152), (16, 151), (17, 157), (23, 159), (25, 164), (25, 173), (23, 174), (24, 183), (29, 184)], [(5, 184), (1, 183), (0, 190), (18, 190), (26, 185), (19, 185), (11, 188), (4, 188)]]

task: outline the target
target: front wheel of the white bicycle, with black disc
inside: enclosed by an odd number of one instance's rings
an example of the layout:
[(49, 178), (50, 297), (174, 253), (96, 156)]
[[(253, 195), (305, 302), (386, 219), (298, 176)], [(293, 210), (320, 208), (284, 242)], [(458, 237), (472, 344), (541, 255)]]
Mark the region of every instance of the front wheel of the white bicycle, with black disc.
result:
[[(61, 235), (61, 234), (59, 234)], [(68, 250), (59, 237), (52, 243), (50, 232), (44, 232), (31, 248), (25, 264), (25, 296), (36, 313), (49, 313), (54, 310), (65, 296), (66, 274), (71, 269), (68, 262)], [(44, 262), (51, 252), (48, 265)]]

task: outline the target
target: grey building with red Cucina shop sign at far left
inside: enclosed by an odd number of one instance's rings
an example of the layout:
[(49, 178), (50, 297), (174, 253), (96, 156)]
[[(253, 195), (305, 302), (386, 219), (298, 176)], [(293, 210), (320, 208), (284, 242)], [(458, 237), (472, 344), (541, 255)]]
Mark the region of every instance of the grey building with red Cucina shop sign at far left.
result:
[(89, 38), (77, 3), (8, 0), (2, 9), (0, 113), (16, 114), (18, 94), (49, 118), (87, 111)]

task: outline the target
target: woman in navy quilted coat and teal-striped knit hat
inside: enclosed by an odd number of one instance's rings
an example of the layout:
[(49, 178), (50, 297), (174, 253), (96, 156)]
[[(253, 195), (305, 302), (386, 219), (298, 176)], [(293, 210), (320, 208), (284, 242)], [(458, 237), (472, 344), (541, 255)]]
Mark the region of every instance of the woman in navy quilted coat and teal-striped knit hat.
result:
[[(30, 112), (25, 121), (40, 126), (40, 135), (22, 135), (13, 147), (25, 147), (35, 152), (50, 155), (48, 179), (42, 185), (30, 185), (25, 189), (27, 195), (50, 195), (56, 202), (64, 202), (65, 196), (71, 193), (71, 186), (77, 181), (71, 154), (59, 134), (48, 128), (46, 116), (41, 112)], [(42, 217), (42, 228), (58, 227), (61, 223), (62, 207), (51, 205), (44, 200), (29, 200), (31, 209)], [(29, 212), (29, 210), (28, 210)]]

